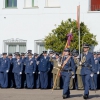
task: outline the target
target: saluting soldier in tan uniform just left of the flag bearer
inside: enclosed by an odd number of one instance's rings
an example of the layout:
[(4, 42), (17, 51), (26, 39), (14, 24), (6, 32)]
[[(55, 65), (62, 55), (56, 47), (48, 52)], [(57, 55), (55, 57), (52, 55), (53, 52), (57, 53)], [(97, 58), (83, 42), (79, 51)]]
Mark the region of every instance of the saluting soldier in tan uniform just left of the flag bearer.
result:
[[(58, 70), (60, 70), (61, 66), (59, 66), (59, 62), (60, 62), (60, 57), (59, 57), (59, 53), (56, 53), (55, 59), (53, 59), (52, 57), (50, 57), (50, 61), (53, 62), (53, 85), (54, 86), (54, 90), (60, 89), (60, 76), (57, 76), (57, 72)], [(56, 79), (57, 77), (57, 79)], [(56, 79), (56, 81), (55, 81)]]

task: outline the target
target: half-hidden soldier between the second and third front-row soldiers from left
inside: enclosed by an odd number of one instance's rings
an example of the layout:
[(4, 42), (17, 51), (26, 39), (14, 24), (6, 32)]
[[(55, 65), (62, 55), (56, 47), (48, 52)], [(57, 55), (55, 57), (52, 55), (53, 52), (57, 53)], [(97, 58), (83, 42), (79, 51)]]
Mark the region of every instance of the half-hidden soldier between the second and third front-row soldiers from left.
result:
[(22, 63), (23, 63), (23, 71), (22, 71), (22, 88), (26, 88), (26, 75), (25, 75), (25, 53), (21, 53), (21, 59), (22, 59)]

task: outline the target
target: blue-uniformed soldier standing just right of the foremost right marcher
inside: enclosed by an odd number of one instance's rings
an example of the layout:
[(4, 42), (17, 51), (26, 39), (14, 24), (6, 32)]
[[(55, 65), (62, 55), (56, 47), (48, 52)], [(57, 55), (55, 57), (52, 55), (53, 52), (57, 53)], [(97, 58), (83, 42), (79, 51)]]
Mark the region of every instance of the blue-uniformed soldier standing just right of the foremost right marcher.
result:
[(94, 54), (94, 61), (95, 61), (95, 67), (94, 67), (95, 70), (94, 70), (93, 77), (90, 78), (91, 90), (97, 89), (97, 75), (99, 74), (99, 67), (100, 67), (96, 52), (94, 52), (93, 54)]

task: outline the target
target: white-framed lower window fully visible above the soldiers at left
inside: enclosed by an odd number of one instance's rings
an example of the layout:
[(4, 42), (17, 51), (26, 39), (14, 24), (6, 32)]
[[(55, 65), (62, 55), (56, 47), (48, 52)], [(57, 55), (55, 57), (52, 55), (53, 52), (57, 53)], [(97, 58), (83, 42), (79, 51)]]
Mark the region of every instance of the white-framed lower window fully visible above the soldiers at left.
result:
[(21, 39), (4, 40), (4, 50), (3, 51), (7, 53), (26, 52), (26, 40), (21, 40)]

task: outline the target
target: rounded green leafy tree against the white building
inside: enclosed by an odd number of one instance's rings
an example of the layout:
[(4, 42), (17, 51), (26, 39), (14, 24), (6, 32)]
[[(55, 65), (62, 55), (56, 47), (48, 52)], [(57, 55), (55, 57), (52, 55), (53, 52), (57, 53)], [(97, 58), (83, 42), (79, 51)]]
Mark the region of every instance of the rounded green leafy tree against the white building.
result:
[[(58, 25), (56, 29), (53, 29), (48, 36), (45, 37), (45, 48), (52, 49), (55, 52), (61, 53), (67, 41), (67, 34), (72, 28), (73, 40), (71, 41), (71, 50), (78, 50), (78, 28), (76, 25), (76, 20), (68, 19), (67, 21), (62, 21), (61, 25)], [(84, 22), (80, 23), (80, 43), (82, 48), (82, 41), (88, 43), (91, 46), (96, 46), (98, 43), (96, 41), (96, 35), (90, 33)]]

